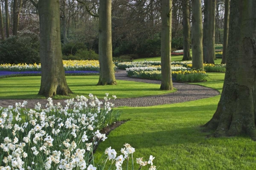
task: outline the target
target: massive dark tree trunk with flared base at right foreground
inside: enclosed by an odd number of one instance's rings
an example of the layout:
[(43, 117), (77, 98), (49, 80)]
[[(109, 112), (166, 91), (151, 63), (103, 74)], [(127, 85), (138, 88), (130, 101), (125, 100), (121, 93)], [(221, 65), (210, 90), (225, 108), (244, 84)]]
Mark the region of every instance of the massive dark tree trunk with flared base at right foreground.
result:
[(206, 130), (215, 130), (215, 137), (248, 134), (256, 140), (255, 9), (255, 0), (230, 2), (223, 91), (213, 118), (204, 125)]

